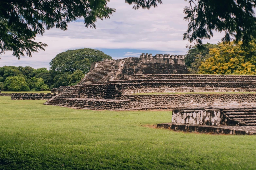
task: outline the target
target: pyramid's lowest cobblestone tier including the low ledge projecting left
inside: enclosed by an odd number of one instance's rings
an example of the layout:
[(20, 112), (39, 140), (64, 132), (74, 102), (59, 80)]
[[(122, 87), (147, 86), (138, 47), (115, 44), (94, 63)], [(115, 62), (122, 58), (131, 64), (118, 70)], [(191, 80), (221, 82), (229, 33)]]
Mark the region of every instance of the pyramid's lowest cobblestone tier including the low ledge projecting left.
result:
[(64, 106), (93, 109), (174, 109), (209, 105), (256, 105), (256, 94), (157, 94), (122, 95), (121, 100), (73, 98)]

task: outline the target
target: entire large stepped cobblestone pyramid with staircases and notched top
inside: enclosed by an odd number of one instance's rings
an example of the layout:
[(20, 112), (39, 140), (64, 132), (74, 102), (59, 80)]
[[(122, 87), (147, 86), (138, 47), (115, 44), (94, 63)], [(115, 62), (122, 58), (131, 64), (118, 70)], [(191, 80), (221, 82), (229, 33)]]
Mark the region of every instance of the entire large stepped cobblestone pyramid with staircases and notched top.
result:
[(152, 92), (256, 92), (256, 76), (191, 75), (183, 56), (142, 54), (140, 58), (92, 64), (77, 86), (63, 86), (46, 105), (84, 109), (174, 109), (188, 106), (254, 105), (254, 93), (140, 94)]

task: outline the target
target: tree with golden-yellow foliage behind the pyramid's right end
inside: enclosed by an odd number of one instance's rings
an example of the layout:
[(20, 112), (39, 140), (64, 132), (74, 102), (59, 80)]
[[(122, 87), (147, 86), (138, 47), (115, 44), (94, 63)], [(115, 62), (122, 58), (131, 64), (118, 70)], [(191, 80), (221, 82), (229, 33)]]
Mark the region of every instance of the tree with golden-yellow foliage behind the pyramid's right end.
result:
[(200, 74), (256, 74), (256, 44), (250, 42), (242, 48), (238, 44), (218, 44), (209, 50), (208, 59), (199, 67)]

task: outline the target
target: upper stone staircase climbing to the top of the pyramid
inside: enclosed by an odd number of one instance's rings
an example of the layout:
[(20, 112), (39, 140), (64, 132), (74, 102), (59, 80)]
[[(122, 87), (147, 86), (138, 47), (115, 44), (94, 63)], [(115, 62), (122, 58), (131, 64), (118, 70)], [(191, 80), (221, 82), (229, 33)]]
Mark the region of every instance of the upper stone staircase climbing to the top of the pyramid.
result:
[(81, 85), (88, 84), (98, 84), (103, 83), (105, 79), (115, 73), (118, 70), (118, 67), (115, 66), (115, 60), (108, 60), (104, 62), (97, 62), (98, 65), (93, 70), (91, 70), (85, 78), (79, 82)]

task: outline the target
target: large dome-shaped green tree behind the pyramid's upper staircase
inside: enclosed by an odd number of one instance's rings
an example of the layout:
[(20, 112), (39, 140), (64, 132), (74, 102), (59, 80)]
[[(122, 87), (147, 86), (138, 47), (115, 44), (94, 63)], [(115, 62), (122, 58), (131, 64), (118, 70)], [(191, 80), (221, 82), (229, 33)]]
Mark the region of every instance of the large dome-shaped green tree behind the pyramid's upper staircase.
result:
[[(75, 84), (77, 80), (74, 80), (74, 78), (80, 75), (80, 71), (85, 75), (90, 71), (93, 62), (100, 62), (104, 59), (112, 59), (112, 57), (100, 50), (89, 48), (67, 50), (57, 54), (50, 62), (50, 75), (54, 77), (51, 88)], [(79, 72), (70, 81), (71, 75), (77, 70)]]

